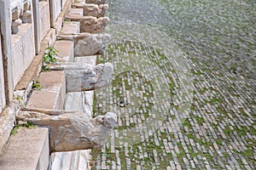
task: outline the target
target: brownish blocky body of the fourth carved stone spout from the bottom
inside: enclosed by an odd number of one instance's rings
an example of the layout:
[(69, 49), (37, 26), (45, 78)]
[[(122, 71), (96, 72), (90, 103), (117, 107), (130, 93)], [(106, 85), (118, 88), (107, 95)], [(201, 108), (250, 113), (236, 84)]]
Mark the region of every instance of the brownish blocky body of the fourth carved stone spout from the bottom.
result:
[(97, 19), (94, 16), (84, 16), (80, 20), (80, 32), (102, 33), (108, 26), (108, 22), (108, 17)]

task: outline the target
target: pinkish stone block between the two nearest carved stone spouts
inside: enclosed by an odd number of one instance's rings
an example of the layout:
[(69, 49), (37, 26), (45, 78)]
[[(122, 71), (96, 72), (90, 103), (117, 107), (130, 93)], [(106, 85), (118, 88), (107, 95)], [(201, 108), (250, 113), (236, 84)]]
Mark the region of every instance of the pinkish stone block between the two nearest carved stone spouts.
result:
[(64, 71), (42, 72), (38, 81), (41, 89), (32, 92), (26, 107), (30, 109), (63, 109), (66, 96)]

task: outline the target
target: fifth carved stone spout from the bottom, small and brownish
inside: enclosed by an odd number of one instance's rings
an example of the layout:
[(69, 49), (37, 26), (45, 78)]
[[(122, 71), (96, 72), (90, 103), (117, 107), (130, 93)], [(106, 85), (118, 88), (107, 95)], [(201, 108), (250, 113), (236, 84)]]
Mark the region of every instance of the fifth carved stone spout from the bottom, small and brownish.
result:
[(106, 14), (108, 4), (73, 3), (72, 8), (84, 8), (84, 16), (95, 16), (99, 18)]

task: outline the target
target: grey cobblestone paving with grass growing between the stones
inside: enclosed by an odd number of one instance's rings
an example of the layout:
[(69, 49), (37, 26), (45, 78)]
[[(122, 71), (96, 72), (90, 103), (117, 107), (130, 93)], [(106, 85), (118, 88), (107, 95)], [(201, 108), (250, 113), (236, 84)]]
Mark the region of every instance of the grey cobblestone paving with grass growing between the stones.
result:
[(256, 3), (109, 0), (118, 114), (95, 169), (255, 169)]

